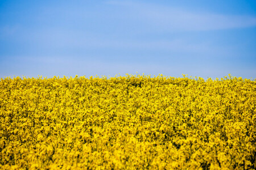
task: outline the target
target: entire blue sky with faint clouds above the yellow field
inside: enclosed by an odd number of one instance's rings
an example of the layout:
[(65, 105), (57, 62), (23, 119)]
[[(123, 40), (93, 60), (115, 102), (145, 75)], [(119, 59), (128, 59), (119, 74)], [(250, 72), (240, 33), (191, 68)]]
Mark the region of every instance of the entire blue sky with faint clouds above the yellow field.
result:
[(256, 1), (0, 1), (0, 78), (256, 78)]

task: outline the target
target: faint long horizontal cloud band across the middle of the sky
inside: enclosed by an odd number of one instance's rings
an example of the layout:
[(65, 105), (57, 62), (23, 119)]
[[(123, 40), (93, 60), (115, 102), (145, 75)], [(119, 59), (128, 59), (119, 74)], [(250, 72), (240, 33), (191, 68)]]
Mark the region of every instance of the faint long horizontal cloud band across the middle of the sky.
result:
[[(60, 31), (59, 31), (60, 32)], [(213, 47), (206, 41), (190, 42), (184, 38), (171, 40), (118, 39), (118, 37), (95, 37), (84, 32), (40, 32), (34, 37), (39, 44), (51, 48), (65, 49), (122, 49), (122, 50), (165, 50), (169, 52), (213, 53), (224, 50)]]

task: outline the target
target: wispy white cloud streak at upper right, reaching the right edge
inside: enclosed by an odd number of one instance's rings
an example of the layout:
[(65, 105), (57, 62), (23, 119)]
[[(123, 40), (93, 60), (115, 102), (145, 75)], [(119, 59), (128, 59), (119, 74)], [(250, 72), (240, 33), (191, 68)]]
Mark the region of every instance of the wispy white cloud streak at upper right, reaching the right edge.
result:
[(208, 31), (256, 26), (256, 16), (211, 14), (131, 1), (108, 3), (133, 11), (130, 17), (162, 31)]

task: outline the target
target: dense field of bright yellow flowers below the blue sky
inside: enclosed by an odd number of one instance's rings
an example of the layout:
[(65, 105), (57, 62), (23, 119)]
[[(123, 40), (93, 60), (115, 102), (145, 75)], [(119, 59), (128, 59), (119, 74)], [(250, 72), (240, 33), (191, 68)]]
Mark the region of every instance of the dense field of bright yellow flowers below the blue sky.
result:
[(256, 169), (256, 80), (0, 81), (1, 169)]

